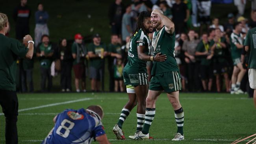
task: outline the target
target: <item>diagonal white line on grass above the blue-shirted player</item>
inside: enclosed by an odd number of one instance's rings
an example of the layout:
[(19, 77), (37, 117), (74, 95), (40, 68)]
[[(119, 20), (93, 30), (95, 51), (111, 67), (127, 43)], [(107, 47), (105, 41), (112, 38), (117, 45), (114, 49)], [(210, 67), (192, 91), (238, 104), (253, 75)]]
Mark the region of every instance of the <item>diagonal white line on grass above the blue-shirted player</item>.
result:
[[(92, 99), (93, 98), (82, 98), (82, 99), (78, 99), (78, 100), (70, 100), (70, 101), (67, 101), (67, 102), (52, 103), (52, 104), (48, 104), (48, 105), (41, 105), (41, 106), (38, 106), (38, 107), (30, 107), (30, 108), (26, 108), (26, 109), (19, 109), (19, 112), (29, 111), (29, 110), (32, 110), (32, 109), (41, 109), (41, 108), (44, 108), (44, 107), (52, 107), (52, 106), (56, 106), (56, 105), (63, 105), (63, 104), (67, 104), (67, 103), (82, 102), (82, 101), (92, 100)], [(0, 113), (0, 115), (3, 115), (3, 113)]]

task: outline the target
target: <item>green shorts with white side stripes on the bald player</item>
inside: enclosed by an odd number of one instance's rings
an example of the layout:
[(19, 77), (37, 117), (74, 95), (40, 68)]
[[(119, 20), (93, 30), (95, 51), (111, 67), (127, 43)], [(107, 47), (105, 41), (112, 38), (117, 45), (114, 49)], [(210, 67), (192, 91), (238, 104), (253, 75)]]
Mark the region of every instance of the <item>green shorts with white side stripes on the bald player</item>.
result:
[(180, 72), (156, 74), (150, 81), (149, 89), (154, 91), (164, 90), (167, 93), (182, 90)]

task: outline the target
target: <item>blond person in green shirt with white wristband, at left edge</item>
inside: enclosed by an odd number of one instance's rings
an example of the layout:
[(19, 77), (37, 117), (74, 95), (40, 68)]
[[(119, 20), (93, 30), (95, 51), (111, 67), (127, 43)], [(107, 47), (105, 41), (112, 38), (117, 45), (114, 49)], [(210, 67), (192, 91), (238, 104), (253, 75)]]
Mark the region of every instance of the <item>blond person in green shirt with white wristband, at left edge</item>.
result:
[(6, 144), (18, 144), (19, 104), (15, 84), (17, 58), (32, 59), (34, 42), (30, 35), (26, 35), (23, 38), (24, 46), (16, 39), (6, 37), (8, 30), (8, 17), (4, 13), (0, 13), (0, 104), (6, 121)]

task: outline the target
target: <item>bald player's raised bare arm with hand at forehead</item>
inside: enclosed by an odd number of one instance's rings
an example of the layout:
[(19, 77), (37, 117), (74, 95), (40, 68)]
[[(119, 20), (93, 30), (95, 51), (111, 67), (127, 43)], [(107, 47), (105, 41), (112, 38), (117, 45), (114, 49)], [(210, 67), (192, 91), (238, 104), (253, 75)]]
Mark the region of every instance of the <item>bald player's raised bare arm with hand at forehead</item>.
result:
[(174, 23), (171, 21), (170, 18), (163, 15), (162, 11), (160, 11), (159, 9), (154, 9), (154, 11), (152, 11), (152, 14), (158, 15), (158, 17), (161, 18), (163, 24), (165, 25), (165, 31), (167, 31), (167, 33), (172, 34), (174, 32)]

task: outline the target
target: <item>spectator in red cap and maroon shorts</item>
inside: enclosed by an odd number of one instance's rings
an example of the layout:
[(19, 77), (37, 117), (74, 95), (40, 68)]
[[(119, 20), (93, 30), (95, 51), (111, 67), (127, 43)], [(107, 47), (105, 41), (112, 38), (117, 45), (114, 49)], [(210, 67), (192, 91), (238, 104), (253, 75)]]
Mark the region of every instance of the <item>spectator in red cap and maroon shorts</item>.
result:
[(73, 69), (75, 73), (75, 86), (76, 86), (76, 92), (80, 92), (79, 89), (79, 81), (82, 82), (82, 90), (83, 92), (86, 92), (85, 90), (85, 56), (87, 54), (87, 50), (85, 49), (85, 46), (82, 44), (83, 37), (80, 33), (77, 33), (74, 37), (75, 41), (72, 44), (72, 57), (74, 59), (73, 61)]

